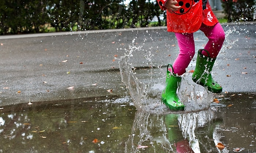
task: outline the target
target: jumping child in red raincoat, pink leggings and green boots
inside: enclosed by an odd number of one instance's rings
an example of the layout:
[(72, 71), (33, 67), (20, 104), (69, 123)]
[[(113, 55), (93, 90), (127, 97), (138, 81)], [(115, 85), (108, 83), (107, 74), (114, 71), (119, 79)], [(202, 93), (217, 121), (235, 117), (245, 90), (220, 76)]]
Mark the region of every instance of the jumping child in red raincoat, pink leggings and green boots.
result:
[(162, 93), (162, 102), (171, 110), (184, 110), (185, 106), (178, 99), (176, 92), (180, 87), (181, 75), (185, 73), (185, 69), (195, 55), (193, 32), (203, 31), (209, 41), (204, 49), (198, 51), (192, 80), (214, 93), (222, 92), (221, 85), (212, 79), (211, 71), (223, 45), (225, 33), (213, 14), (208, 0), (157, 1), (162, 10), (167, 9), (167, 31), (175, 33), (180, 47), (180, 53), (173, 65), (167, 66), (166, 87)]

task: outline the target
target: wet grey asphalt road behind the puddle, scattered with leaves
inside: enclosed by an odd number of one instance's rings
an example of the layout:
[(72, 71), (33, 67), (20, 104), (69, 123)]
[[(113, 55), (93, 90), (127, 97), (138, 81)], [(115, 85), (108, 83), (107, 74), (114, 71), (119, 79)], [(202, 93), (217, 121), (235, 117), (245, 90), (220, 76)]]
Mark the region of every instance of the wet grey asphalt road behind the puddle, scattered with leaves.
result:
[[(213, 71), (223, 91), (256, 92), (255, 25), (223, 24), (226, 41)], [(207, 42), (201, 31), (194, 38), (196, 50)], [(162, 67), (178, 54), (176, 38), (166, 27), (0, 36), (0, 106), (129, 95), (115, 58), (124, 56), (133, 39), (141, 47), (133, 53), (135, 67), (148, 68), (149, 53), (151, 62)]]

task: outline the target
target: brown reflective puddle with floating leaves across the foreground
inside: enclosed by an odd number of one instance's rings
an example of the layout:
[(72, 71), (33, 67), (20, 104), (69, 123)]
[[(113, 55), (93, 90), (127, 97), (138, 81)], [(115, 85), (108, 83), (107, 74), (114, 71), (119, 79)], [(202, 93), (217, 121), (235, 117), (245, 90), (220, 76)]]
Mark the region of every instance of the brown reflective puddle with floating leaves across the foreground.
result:
[(184, 114), (138, 111), (130, 97), (6, 106), (0, 152), (256, 152), (256, 94), (215, 97), (210, 109)]

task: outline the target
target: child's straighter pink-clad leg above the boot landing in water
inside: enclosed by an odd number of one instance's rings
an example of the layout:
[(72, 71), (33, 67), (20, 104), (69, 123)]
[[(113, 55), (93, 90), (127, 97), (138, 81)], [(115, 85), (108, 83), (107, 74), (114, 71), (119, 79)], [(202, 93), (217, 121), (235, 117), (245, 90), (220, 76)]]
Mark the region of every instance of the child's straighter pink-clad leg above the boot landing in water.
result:
[(186, 72), (186, 68), (195, 55), (195, 42), (193, 33), (175, 33), (180, 53), (173, 63), (174, 74), (179, 76)]

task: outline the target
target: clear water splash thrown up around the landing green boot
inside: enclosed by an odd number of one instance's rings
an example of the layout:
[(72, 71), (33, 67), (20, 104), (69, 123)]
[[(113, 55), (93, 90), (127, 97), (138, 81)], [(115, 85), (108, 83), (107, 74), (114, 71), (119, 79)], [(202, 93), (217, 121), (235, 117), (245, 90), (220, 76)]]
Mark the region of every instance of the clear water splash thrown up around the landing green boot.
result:
[[(162, 91), (165, 87), (166, 69), (161, 68), (161, 66), (154, 66), (150, 53), (146, 58), (134, 57), (132, 53), (142, 48), (141, 46), (136, 47), (134, 42), (135, 39), (133, 39), (129, 49), (125, 49), (126, 53), (119, 61), (121, 79), (129, 89), (134, 106), (138, 110), (152, 113), (168, 113), (170, 110), (161, 102)], [(135, 70), (132, 61), (141, 59), (146, 59), (145, 63), (150, 65), (148, 66), (149, 70)], [(140, 78), (142, 74), (147, 76)], [(205, 110), (210, 107), (213, 94), (204, 87), (193, 83), (191, 75), (190, 73), (185, 73), (182, 77), (178, 96), (185, 104), (185, 111)]]

